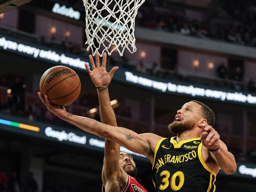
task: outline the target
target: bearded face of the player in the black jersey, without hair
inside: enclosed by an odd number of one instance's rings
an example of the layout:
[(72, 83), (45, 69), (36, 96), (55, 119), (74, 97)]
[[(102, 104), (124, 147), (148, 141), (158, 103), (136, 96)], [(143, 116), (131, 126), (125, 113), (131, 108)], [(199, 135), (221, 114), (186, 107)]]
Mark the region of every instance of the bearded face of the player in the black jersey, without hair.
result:
[(185, 103), (182, 108), (177, 111), (174, 121), (169, 124), (169, 130), (174, 134), (191, 130), (202, 118), (200, 108), (201, 105), (196, 102)]

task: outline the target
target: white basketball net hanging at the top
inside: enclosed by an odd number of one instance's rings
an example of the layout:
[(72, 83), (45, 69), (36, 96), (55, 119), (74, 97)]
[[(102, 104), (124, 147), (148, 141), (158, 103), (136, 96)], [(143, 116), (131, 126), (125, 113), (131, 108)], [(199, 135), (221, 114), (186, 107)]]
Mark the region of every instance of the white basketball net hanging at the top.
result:
[(134, 25), (139, 7), (145, 0), (83, 0), (87, 51), (102, 56), (124, 50), (136, 52)]

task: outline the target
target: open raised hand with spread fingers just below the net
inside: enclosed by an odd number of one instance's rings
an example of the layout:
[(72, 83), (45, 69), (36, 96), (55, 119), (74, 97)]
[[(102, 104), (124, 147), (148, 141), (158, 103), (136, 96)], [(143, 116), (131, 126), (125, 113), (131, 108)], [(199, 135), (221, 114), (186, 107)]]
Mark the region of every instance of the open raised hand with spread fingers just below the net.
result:
[(100, 58), (98, 52), (95, 53), (95, 59), (96, 59), (96, 67), (93, 61), (92, 55), (89, 56), (91, 61), (92, 70), (89, 69), (87, 64), (85, 63), (85, 68), (88, 71), (88, 73), (91, 76), (92, 82), (95, 86), (106, 86), (110, 84), (111, 79), (115, 73), (115, 71), (118, 69), (118, 67), (113, 67), (110, 72), (108, 73), (106, 70), (106, 62), (107, 62), (107, 54), (103, 54), (103, 60), (102, 65), (100, 66)]

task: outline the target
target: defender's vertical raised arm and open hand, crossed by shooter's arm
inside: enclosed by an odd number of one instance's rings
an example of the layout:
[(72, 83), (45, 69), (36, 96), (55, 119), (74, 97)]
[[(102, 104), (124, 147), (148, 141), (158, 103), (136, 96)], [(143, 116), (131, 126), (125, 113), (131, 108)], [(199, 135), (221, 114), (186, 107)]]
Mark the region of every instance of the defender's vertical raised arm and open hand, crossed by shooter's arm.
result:
[[(96, 52), (96, 66), (92, 55), (89, 56), (92, 70), (85, 64), (85, 68), (89, 73), (93, 84), (96, 87), (107, 86), (118, 67), (113, 68), (111, 72), (106, 70), (107, 54), (103, 54), (102, 66), (100, 66), (100, 58)], [(100, 103), (100, 119), (104, 124), (117, 126), (116, 116), (110, 104), (108, 88), (97, 89)], [(111, 140), (105, 139), (104, 162), (102, 168), (102, 181), (106, 192), (121, 191), (120, 185), (125, 185), (127, 175), (121, 171), (119, 165), (120, 145)]]

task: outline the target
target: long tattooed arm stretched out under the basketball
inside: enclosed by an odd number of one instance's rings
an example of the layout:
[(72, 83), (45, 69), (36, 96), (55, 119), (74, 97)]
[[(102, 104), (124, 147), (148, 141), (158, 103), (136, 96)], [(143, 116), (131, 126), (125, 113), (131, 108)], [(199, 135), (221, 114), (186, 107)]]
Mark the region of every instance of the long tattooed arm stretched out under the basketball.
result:
[(152, 133), (138, 134), (123, 127), (110, 126), (100, 123), (94, 119), (76, 116), (68, 113), (63, 107), (53, 106), (49, 102), (47, 95), (45, 95), (44, 98), (42, 94), (38, 92), (38, 96), (47, 107), (47, 109), (58, 116), (60, 119), (77, 126), (85, 132), (89, 132), (99, 137), (115, 141), (135, 153), (147, 156), (150, 162), (153, 163), (154, 150), (156, 143), (161, 139), (160, 136)]

